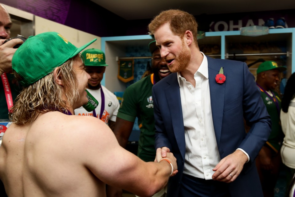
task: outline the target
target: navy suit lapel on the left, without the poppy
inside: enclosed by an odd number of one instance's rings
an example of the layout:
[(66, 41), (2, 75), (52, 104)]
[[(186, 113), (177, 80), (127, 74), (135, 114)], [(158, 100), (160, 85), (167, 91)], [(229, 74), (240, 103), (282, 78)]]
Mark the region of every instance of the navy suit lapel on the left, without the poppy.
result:
[(184, 137), (184, 126), (183, 126), (183, 115), (181, 108), (181, 99), (179, 84), (177, 81), (177, 74), (172, 73), (173, 77), (170, 77), (170, 80), (167, 81), (169, 86), (165, 89), (166, 100), (169, 106), (169, 111), (171, 115), (173, 132), (179, 151), (183, 157), (185, 157), (185, 137)]

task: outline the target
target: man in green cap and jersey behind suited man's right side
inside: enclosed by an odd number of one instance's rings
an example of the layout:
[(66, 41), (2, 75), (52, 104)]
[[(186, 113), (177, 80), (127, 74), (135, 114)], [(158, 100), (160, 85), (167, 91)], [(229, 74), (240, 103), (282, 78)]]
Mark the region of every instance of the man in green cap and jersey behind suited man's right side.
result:
[(274, 89), (279, 82), (280, 72), (285, 67), (277, 62), (265, 61), (257, 69), (256, 84), (271, 119), (271, 132), (256, 159), (256, 167), (262, 185), (263, 195), (273, 197), (281, 164), (280, 148), (283, 132), (280, 123), (281, 98)]

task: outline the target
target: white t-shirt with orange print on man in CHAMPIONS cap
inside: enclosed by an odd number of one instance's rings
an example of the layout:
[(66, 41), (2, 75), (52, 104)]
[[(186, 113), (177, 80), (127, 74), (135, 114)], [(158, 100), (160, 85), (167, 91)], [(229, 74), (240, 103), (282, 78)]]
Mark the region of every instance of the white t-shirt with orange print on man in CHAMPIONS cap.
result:
[[(119, 101), (115, 94), (113, 94), (110, 90), (108, 90), (106, 87), (101, 86), (103, 92), (104, 92), (104, 113), (101, 116), (101, 120), (104, 121), (104, 123), (108, 124), (108, 121), (114, 121), (116, 122), (118, 110), (120, 107)], [(98, 90), (90, 90), (87, 88), (87, 90), (92, 94), (94, 98), (98, 101), (98, 106), (95, 109), (96, 117), (98, 118), (100, 115), (100, 109), (101, 109), (101, 93), (100, 89)], [(93, 112), (86, 111), (83, 107), (80, 107), (78, 109), (75, 109), (75, 115), (82, 115), (82, 116), (93, 116)]]

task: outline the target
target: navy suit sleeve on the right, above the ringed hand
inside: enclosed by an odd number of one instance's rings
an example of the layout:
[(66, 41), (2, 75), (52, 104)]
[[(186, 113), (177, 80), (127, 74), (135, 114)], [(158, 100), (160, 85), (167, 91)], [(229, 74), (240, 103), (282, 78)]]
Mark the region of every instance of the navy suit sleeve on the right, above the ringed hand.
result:
[(239, 148), (246, 151), (250, 156), (250, 160), (253, 162), (268, 139), (271, 131), (271, 121), (260, 96), (260, 91), (256, 86), (253, 74), (250, 73), (246, 63), (243, 66), (243, 111), (246, 124), (250, 126), (250, 130)]

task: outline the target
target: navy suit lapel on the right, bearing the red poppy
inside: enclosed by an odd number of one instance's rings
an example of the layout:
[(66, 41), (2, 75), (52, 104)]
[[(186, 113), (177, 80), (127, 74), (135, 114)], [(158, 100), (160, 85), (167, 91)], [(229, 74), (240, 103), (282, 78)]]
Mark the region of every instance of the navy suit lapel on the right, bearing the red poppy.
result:
[[(212, 119), (213, 119), (216, 142), (219, 147), (221, 128), (222, 128), (226, 82), (219, 84), (215, 81), (216, 74), (218, 74), (220, 68), (223, 67), (221, 62), (209, 57), (207, 57), (207, 59), (208, 59), (208, 74), (209, 74)], [(224, 73), (224, 75), (226, 76), (226, 73)]]

